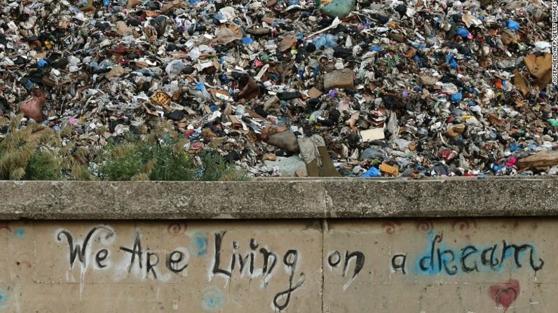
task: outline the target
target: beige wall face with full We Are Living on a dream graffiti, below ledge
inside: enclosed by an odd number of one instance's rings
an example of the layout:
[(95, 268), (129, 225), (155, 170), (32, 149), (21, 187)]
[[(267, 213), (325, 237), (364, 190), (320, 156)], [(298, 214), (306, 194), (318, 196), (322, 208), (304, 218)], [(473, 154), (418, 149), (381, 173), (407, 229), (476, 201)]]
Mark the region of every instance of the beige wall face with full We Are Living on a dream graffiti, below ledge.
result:
[(556, 312), (557, 224), (11, 221), (0, 312)]

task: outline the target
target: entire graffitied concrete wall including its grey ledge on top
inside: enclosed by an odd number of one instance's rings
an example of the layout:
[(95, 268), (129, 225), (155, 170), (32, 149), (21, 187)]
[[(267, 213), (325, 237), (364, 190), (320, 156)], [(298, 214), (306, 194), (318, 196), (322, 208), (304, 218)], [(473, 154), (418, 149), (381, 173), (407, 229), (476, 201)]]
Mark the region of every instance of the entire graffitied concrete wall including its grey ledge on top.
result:
[(0, 190), (0, 312), (558, 307), (556, 179)]

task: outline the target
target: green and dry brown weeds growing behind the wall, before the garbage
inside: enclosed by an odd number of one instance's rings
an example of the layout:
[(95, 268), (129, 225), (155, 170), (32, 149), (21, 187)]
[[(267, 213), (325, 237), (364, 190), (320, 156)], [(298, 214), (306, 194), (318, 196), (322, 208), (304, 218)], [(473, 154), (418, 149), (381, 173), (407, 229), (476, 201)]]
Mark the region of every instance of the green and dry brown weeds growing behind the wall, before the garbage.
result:
[[(226, 162), (215, 151), (193, 155), (186, 151), (188, 141), (161, 125), (141, 136), (125, 132), (109, 137), (95, 155), (69, 140), (74, 135), (67, 125), (55, 132), (32, 123), (21, 125), (22, 116), (8, 125), (0, 137), (0, 179), (6, 180), (106, 180), (106, 181), (218, 181), (241, 180), (243, 172)], [(100, 134), (103, 130), (99, 130)]]

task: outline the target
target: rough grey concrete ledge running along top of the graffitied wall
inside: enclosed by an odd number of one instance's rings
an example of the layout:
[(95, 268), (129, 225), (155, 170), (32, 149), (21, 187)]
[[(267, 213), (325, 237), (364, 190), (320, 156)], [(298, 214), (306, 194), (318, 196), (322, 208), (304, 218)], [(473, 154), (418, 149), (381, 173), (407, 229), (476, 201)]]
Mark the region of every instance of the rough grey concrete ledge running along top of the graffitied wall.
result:
[(0, 181), (0, 219), (558, 216), (558, 179)]

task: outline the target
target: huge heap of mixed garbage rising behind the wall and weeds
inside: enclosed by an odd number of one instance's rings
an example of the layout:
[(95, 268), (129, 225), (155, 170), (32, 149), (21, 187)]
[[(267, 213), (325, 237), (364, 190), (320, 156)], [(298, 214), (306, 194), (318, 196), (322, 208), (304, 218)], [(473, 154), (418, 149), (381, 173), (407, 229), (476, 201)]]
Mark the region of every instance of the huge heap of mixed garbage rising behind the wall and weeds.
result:
[(558, 174), (550, 6), (0, 0), (0, 115), (91, 155), (170, 121), (252, 176)]

